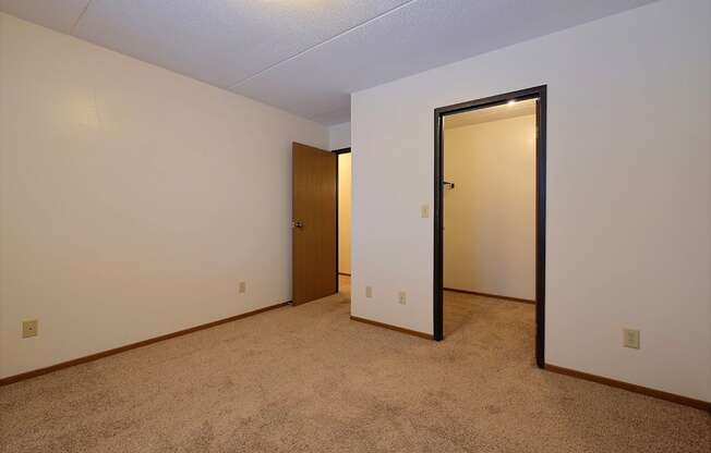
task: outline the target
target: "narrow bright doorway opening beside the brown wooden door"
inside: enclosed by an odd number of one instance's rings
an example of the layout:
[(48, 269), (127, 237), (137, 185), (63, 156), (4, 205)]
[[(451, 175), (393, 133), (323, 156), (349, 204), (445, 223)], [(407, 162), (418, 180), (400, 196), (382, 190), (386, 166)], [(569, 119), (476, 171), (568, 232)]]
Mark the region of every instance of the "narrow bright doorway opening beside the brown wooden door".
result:
[(338, 292), (350, 297), (351, 279), (351, 151), (336, 149), (338, 155)]

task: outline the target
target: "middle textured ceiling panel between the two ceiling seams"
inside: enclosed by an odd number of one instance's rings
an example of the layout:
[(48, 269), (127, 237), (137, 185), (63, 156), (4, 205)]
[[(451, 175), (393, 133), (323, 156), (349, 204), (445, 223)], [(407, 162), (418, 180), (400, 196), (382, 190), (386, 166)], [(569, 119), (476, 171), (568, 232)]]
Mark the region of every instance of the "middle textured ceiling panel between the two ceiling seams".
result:
[(220, 87), (406, 0), (94, 0), (80, 38)]

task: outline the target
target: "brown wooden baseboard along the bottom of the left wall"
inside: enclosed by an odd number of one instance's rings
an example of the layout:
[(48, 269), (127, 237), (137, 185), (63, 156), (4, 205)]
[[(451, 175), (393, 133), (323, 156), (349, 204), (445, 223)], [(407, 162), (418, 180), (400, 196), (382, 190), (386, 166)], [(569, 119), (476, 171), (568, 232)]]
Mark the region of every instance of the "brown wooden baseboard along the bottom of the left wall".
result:
[(246, 317), (250, 317), (250, 316), (258, 315), (258, 314), (264, 313), (264, 311), (268, 311), (268, 310), (273, 310), (275, 308), (284, 307), (285, 305), (288, 305), (288, 304), (290, 304), (290, 302), (284, 302), (281, 304), (270, 305), (268, 307), (264, 307), (264, 308), (260, 308), (260, 309), (256, 309), (256, 310), (243, 313), (242, 315), (231, 316), (229, 318), (219, 319), (217, 321), (207, 322), (205, 325), (200, 325), (200, 326), (191, 327), (189, 329), (179, 330), (177, 332), (167, 333), (165, 335), (155, 336), (153, 339), (143, 340), (143, 341), (140, 341), (137, 343), (126, 344), (125, 346), (119, 346), (119, 347), (115, 347), (112, 350), (103, 351), (100, 353), (87, 355), (87, 356), (80, 357), (80, 358), (74, 358), (72, 360), (62, 362), (61, 364), (51, 365), (49, 367), (22, 372), (20, 375), (15, 375), (15, 376), (9, 376), (7, 378), (0, 379), (0, 387), (8, 385), (8, 384), (13, 383), (13, 382), (23, 381), (25, 379), (35, 378), (37, 376), (47, 375), (49, 372), (58, 371), (60, 369), (64, 369), (64, 368), (69, 368), (69, 367), (73, 367), (75, 365), (85, 364), (87, 362), (98, 360), (99, 358), (108, 357), (108, 356), (115, 355), (115, 354), (120, 354), (120, 353), (123, 353), (123, 352), (126, 352), (126, 351), (130, 351), (130, 350), (135, 350), (136, 347), (147, 346), (148, 344), (157, 343), (159, 341), (170, 340), (170, 339), (176, 338), (176, 336), (186, 335), (188, 333), (193, 333), (193, 332), (196, 332), (198, 330), (209, 329), (210, 327), (224, 325), (226, 322), (237, 321), (238, 319), (242, 319), (242, 318), (246, 318)]

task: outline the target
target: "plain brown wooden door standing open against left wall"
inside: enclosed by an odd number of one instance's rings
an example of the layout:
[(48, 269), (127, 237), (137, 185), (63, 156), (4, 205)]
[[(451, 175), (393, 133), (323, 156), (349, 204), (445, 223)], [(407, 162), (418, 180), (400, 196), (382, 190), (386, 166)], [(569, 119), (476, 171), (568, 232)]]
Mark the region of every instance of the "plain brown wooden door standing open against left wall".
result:
[(303, 304), (338, 292), (338, 155), (293, 144), (292, 299)]

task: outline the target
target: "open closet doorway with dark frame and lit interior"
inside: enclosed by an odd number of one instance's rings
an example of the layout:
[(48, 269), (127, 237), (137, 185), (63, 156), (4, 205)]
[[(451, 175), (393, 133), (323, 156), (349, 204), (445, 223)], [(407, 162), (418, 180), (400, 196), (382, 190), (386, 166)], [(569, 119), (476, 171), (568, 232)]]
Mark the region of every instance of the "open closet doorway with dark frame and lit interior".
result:
[(543, 368), (545, 86), (436, 109), (434, 180), (435, 340), (447, 301), (532, 303)]

